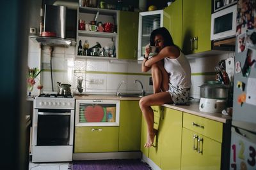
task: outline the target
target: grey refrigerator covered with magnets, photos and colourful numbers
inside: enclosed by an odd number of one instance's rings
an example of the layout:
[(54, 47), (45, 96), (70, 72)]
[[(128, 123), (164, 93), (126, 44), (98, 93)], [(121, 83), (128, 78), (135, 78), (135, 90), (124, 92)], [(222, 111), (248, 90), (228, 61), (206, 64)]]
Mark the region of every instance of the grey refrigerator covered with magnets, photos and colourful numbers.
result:
[(237, 1), (230, 169), (256, 170), (256, 0)]

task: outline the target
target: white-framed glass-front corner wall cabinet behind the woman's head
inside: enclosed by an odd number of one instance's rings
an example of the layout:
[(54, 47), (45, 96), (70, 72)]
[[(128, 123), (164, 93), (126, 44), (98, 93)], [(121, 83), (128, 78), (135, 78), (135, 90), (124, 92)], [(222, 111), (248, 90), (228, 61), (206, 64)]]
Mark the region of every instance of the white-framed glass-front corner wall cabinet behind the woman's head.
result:
[(163, 10), (146, 11), (139, 14), (138, 60), (143, 60), (145, 46), (150, 43), (150, 34), (159, 27), (163, 27)]

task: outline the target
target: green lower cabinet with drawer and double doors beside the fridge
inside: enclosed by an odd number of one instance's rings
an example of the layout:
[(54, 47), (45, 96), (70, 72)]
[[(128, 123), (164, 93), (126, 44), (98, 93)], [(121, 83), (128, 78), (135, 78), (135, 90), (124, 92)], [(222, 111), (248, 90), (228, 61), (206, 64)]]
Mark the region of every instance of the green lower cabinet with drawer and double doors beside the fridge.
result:
[(223, 124), (184, 113), (181, 170), (221, 169)]

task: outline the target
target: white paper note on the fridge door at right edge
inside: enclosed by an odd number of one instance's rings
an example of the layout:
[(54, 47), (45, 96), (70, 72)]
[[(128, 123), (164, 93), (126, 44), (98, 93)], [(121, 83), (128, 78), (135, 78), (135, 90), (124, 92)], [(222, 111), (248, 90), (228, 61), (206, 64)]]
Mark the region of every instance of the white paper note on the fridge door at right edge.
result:
[(246, 87), (246, 103), (256, 105), (256, 78), (248, 78)]

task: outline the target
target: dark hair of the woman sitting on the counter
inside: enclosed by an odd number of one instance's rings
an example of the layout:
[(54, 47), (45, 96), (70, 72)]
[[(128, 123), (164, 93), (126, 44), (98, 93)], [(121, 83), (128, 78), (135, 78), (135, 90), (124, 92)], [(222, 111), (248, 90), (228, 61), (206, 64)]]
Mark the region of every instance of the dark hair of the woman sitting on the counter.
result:
[(158, 29), (154, 29), (152, 32), (151, 32), (151, 35), (150, 35), (150, 45), (154, 46), (155, 45), (155, 37), (156, 35), (161, 35), (163, 36), (163, 39), (164, 39), (164, 46), (170, 46), (170, 45), (174, 45), (176, 46), (174, 43), (173, 43), (173, 39), (172, 39), (172, 36), (170, 34), (170, 32), (168, 31), (168, 29), (166, 29), (165, 27), (160, 27)]

